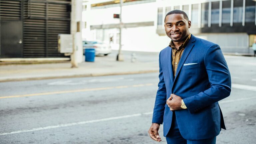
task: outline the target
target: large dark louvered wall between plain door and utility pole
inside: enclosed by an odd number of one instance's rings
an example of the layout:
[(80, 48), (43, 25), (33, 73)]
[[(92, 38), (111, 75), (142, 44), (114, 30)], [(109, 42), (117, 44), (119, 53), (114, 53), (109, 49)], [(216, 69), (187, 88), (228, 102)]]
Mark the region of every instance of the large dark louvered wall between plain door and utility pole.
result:
[(58, 34), (70, 33), (70, 0), (24, 1), (24, 57), (64, 57)]

